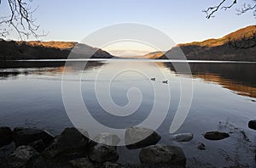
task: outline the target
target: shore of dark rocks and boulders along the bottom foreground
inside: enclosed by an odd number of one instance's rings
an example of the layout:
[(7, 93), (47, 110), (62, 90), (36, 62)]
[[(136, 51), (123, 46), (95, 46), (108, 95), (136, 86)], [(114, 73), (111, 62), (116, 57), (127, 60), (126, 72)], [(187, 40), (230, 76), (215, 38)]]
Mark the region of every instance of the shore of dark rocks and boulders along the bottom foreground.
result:
[[(148, 132), (150, 136), (143, 137)], [(230, 137), (226, 132), (206, 132), (202, 136), (213, 141)], [(109, 133), (101, 133), (90, 140), (86, 131), (74, 127), (66, 128), (61, 135), (54, 137), (38, 128), (16, 127), (11, 130), (3, 126), (0, 127), (0, 137), (0, 148), (10, 143), (15, 144), (13, 151), (0, 158), (1, 168), (185, 167), (187, 162), (182, 148), (158, 144), (160, 135), (142, 127), (127, 128), (125, 132), (126, 148), (140, 148), (141, 164), (138, 165), (118, 163), (120, 139)], [(192, 133), (181, 133), (172, 135), (171, 140), (177, 143), (188, 142), (193, 137)], [(134, 140), (137, 143), (131, 144)], [(197, 143), (195, 148), (207, 149), (204, 143)]]

